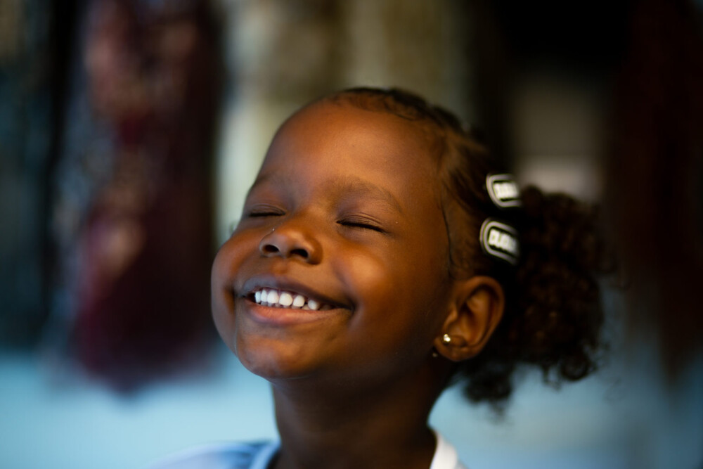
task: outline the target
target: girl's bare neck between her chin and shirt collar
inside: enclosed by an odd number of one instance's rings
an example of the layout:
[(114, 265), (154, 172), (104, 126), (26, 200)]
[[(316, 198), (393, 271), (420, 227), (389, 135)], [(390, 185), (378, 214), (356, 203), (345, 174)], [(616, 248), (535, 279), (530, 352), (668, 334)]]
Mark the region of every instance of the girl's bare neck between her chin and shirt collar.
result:
[[(438, 369), (439, 368), (439, 369)], [(392, 383), (273, 383), (281, 449), (276, 469), (430, 467), (427, 418), (446, 370), (427, 366)]]

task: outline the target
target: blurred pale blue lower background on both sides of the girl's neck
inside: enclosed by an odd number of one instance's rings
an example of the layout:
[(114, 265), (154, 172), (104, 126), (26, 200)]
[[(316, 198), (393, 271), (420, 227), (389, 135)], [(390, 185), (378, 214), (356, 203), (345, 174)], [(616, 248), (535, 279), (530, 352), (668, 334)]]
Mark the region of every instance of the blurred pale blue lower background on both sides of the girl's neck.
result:
[[(274, 438), (266, 382), (224, 347), (217, 359), (211, 374), (127, 398), (81, 378), (52, 376), (31, 356), (3, 356), (0, 467), (143, 468), (198, 444)], [(669, 392), (649, 359), (559, 392), (527, 379), (501, 422), (450, 390), (432, 425), (472, 469), (698, 468), (703, 368)]]

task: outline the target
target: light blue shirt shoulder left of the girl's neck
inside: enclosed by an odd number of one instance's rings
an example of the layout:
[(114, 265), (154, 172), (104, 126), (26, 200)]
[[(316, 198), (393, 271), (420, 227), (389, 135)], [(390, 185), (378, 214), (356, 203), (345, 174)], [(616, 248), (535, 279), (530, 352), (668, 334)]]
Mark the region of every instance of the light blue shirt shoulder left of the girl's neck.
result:
[(277, 442), (210, 444), (180, 451), (149, 469), (266, 469), (277, 451)]

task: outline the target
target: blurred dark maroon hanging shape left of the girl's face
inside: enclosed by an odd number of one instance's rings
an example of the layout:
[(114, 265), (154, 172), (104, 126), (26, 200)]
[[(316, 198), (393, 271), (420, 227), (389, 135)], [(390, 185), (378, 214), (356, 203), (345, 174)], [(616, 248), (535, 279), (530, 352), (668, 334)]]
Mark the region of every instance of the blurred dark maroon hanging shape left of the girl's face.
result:
[(212, 339), (219, 44), (207, 2), (150, 3), (94, 1), (84, 55), (116, 157), (79, 240), (75, 349), (121, 389), (191, 368)]

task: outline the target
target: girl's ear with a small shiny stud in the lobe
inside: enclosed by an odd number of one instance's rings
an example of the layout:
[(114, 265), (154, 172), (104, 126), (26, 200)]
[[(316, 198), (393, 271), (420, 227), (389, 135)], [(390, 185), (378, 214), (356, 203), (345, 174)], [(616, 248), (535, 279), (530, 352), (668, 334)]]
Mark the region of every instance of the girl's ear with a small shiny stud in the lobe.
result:
[(437, 352), (451, 361), (478, 354), (503, 317), (505, 294), (495, 278), (475, 276), (457, 281), (451, 311), (434, 340)]

